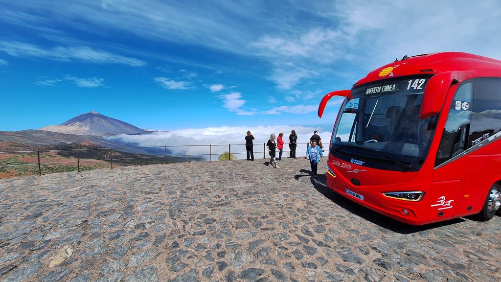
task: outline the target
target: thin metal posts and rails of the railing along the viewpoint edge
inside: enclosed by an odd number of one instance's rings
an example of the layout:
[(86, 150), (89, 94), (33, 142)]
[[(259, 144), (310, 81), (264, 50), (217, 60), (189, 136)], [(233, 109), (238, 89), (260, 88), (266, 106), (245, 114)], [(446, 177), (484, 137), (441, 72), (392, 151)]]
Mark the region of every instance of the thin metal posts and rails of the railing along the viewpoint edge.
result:
[[(284, 151), (283, 151), (283, 154), (289, 152), (290, 153), (290, 150), (289, 151), (285, 151), (285, 149), (288, 147), (287, 146), (288, 144), (284, 144)], [(305, 145), (306, 146), (306, 149), (308, 149), (308, 143), (298, 143), (297, 146), (299, 147), (300, 145)], [(29, 154), (29, 153), (36, 153), (37, 154), (37, 163), (33, 163), (33, 164), (22, 164), (22, 165), (0, 165), (0, 170), (3, 169), (3, 168), (8, 168), (8, 167), (28, 167), (28, 166), (38, 166), (38, 171), (39, 171), (39, 176), (42, 175), (42, 166), (45, 166), (45, 165), (55, 165), (55, 164), (74, 164), (76, 163), (77, 164), (77, 170), (78, 172), (81, 172), (81, 169), (80, 169), (80, 164), (81, 163), (88, 163), (88, 162), (96, 162), (96, 161), (104, 161), (104, 162), (110, 162), (110, 169), (113, 169), (113, 161), (121, 161), (121, 160), (136, 160), (136, 159), (139, 159), (139, 160), (142, 160), (142, 159), (152, 159), (152, 158), (164, 158), (165, 159), (165, 164), (167, 164), (167, 157), (187, 157), (188, 158), (188, 163), (190, 163), (191, 161), (191, 157), (204, 157), (204, 156), (208, 156), (209, 157), (209, 162), (212, 161), (212, 156), (213, 155), (217, 155), (217, 156), (220, 156), (221, 154), (224, 154), (226, 152), (223, 152), (223, 153), (212, 153), (212, 147), (220, 147), (220, 146), (227, 146), (228, 147), (228, 154), (229, 154), (229, 161), (232, 161), (231, 160), (231, 156), (232, 155), (241, 155), (241, 154), (247, 154), (246, 151), (245, 152), (238, 152), (238, 153), (231, 153), (231, 147), (235, 147), (235, 146), (243, 146), (243, 148), (245, 148), (245, 144), (228, 144), (228, 145), (212, 145), (212, 144), (209, 144), (209, 145), (175, 145), (175, 146), (151, 146), (151, 147), (123, 147), (123, 148), (82, 148), (82, 149), (61, 149), (61, 150), (37, 150), (37, 151), (11, 151), (11, 152), (0, 152), (0, 154)], [(255, 147), (257, 146), (257, 144), (255, 144)], [(179, 148), (179, 147), (186, 147), (187, 150), (188, 150), (188, 154), (187, 155), (167, 155), (167, 149), (168, 148)], [(209, 147), (209, 153), (208, 154), (190, 154), (190, 148), (192, 147)], [(141, 149), (158, 149), (158, 148), (162, 148), (164, 149), (164, 155), (163, 156), (153, 156), (153, 155), (145, 155), (144, 157), (142, 156), (141, 154)], [(123, 152), (123, 151), (119, 151), (119, 150), (129, 150), (129, 149), (138, 149), (139, 150), (139, 157), (134, 157), (134, 158), (116, 158), (116, 159), (113, 159), (113, 151), (117, 151), (117, 152), (121, 152), (121, 153), (129, 153), (129, 154), (135, 154), (135, 153), (130, 153), (130, 152)], [(108, 150), (109, 151), (109, 158), (108, 159), (96, 159), (96, 160), (88, 160), (88, 159), (84, 159), (84, 160), (81, 160), (80, 159), (80, 152), (82, 151), (105, 151), (105, 150)], [(67, 162), (50, 162), (50, 163), (42, 163), (40, 161), (40, 153), (51, 153), (51, 152), (76, 152), (76, 155), (77, 155), (77, 160), (76, 161), (67, 161)], [(306, 152), (306, 150), (296, 150), (296, 152)], [(254, 152), (254, 155), (256, 156), (257, 154), (261, 154), (263, 153), (263, 159), (267, 159), (267, 153), (268, 153), (268, 150), (266, 148), (266, 143), (263, 143), (263, 151), (261, 152)], [(278, 151), (277, 151), (277, 156), (278, 156)], [(140, 165), (141, 166), (141, 165)]]

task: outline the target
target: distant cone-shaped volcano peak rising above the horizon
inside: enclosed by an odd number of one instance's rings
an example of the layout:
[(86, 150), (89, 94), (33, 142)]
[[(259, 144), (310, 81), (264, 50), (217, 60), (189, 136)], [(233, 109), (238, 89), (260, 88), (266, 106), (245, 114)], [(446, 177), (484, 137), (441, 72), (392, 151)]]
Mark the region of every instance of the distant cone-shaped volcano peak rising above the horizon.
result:
[(91, 111), (78, 115), (60, 125), (50, 125), (40, 130), (78, 135), (141, 134), (144, 130), (127, 122)]

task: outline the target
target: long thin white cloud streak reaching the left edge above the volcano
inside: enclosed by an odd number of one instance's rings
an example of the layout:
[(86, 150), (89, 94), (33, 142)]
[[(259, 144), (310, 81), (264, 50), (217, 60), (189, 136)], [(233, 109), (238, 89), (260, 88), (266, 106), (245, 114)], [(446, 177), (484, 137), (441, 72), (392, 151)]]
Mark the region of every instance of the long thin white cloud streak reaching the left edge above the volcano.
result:
[(19, 41), (0, 41), (0, 51), (15, 57), (44, 58), (70, 62), (78, 61), (95, 64), (121, 64), (133, 67), (146, 65), (145, 61), (95, 50), (87, 46), (43, 48), (35, 44)]

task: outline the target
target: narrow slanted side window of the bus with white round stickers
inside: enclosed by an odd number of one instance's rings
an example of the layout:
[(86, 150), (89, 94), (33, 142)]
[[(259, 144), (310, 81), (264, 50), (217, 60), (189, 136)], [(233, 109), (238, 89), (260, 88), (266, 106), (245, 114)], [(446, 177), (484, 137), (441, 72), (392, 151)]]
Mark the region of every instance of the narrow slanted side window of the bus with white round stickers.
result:
[(466, 139), (471, 123), (472, 89), (472, 80), (467, 80), (457, 88), (454, 94), (438, 147), (435, 166), (443, 164), (466, 150)]

